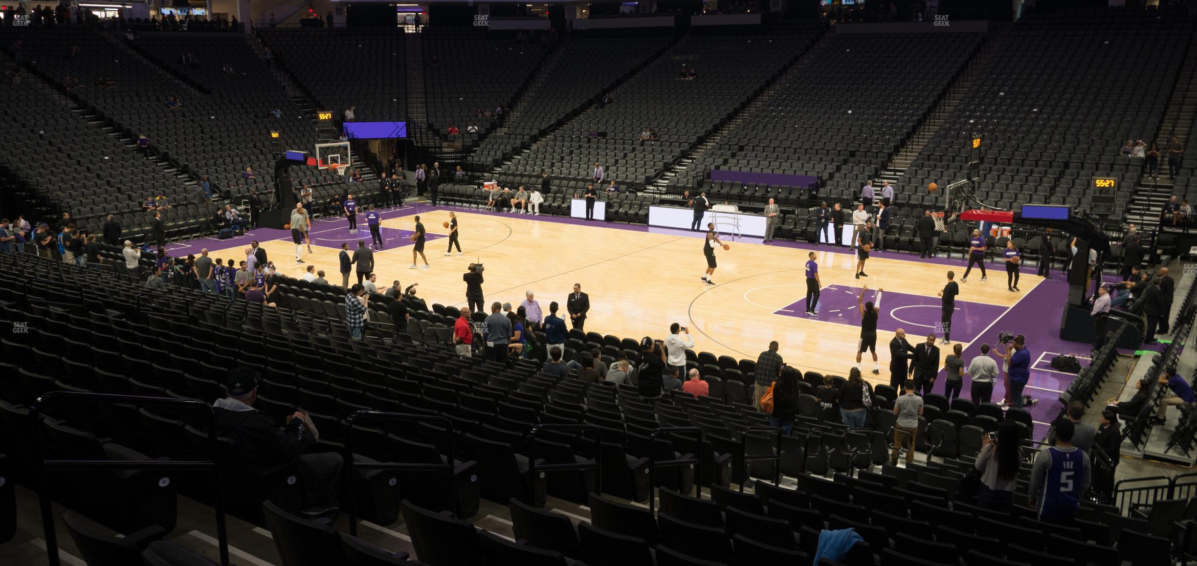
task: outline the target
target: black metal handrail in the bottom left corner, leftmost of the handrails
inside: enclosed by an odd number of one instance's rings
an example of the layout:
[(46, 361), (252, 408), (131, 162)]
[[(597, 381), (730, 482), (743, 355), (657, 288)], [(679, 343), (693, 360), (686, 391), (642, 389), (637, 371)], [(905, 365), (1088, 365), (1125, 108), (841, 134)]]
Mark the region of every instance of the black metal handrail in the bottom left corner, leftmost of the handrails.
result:
[[(42, 451), (41, 421), (38, 415), (42, 406), (49, 400), (74, 400), (83, 402), (113, 402), (121, 404), (178, 404), (190, 407), (203, 407), (208, 416), (208, 448), (212, 450), (212, 460), (202, 461), (160, 461), (160, 460), (122, 460), (95, 461), (95, 460), (45, 460)], [(42, 529), (45, 536), (45, 554), (49, 566), (59, 566), (59, 540), (54, 529), (54, 509), (50, 499), (50, 481), (47, 476), (49, 470), (68, 469), (172, 469), (172, 470), (205, 470), (211, 471), (213, 503), (212, 507), (217, 515), (217, 548), (220, 553), (220, 564), (229, 564), (229, 534), (225, 529), (224, 493), (220, 487), (220, 449), (217, 440), (217, 416), (212, 407), (194, 398), (176, 397), (147, 397), (144, 395), (113, 395), (81, 391), (49, 391), (29, 407), (29, 418), (34, 421), (34, 427), (38, 432), (34, 434), (34, 477), (37, 481), (37, 498), (42, 512)]]

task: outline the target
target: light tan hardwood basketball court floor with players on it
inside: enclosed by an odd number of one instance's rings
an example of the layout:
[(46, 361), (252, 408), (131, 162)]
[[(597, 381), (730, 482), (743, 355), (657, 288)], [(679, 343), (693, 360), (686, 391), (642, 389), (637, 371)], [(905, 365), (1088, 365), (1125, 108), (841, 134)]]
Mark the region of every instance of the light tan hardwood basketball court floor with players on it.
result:
[[(455, 211), (457, 212), (457, 211)], [(585, 330), (639, 339), (645, 335), (663, 339), (672, 322), (689, 328), (695, 351), (716, 355), (755, 360), (770, 340), (780, 342), (786, 363), (803, 371), (846, 375), (856, 359), (859, 315), (856, 296), (863, 285), (870, 287), (865, 300), (874, 300), (873, 290), (885, 290), (880, 303), (877, 355), (881, 375), (873, 376), (865, 354), (864, 375), (887, 382), (888, 341), (895, 328), (904, 328), (911, 343), (923, 341), (940, 321), (936, 297), (953, 269), (956, 279), (964, 273), (964, 261), (952, 264), (917, 261), (917, 256), (899, 252), (874, 252), (868, 260), (868, 278), (855, 279), (852, 254), (816, 249), (824, 291), (820, 315), (803, 315), (806, 279), (803, 264), (808, 249), (795, 245), (762, 245), (759, 241), (729, 242), (730, 250), (718, 250), (716, 286), (699, 278), (706, 267), (703, 241), (697, 233), (676, 230), (630, 229), (606, 223), (546, 219), (518, 214), (457, 212), (462, 256), (443, 257), (446, 239), (430, 239), (426, 255), (431, 269), (408, 269), (412, 243), (407, 235), (414, 226), (414, 212), (383, 220), (388, 248), (375, 254), (378, 286), (394, 280), (403, 286), (419, 282), (419, 296), (430, 305), (464, 304), (462, 274), (474, 261), (486, 264), (485, 292), (491, 302), (517, 305), (524, 291), (533, 291), (546, 315), (549, 302), (558, 302), (564, 316), (565, 299), (575, 282), (590, 296), (590, 315)], [(430, 237), (446, 235), (442, 223), (448, 209), (421, 212)], [(303, 252), (308, 264), (324, 269), (330, 282), (339, 284), (338, 252), (340, 243), (358, 239), (369, 243), (365, 219), (359, 215), (361, 232), (350, 235), (344, 219), (317, 221), (312, 226), (315, 252)], [(294, 263), (290, 238), (262, 242), (281, 273), (299, 276), (306, 264)], [(391, 248), (394, 245), (394, 248)], [(193, 251), (193, 250), (188, 250)], [(244, 257), (241, 248), (213, 252), (214, 257)], [(423, 266), (423, 262), (419, 262)], [(989, 325), (1041, 281), (1023, 273), (1022, 292), (1003, 288), (1005, 273), (991, 263), (990, 278), (980, 281), (976, 270), (968, 282), (960, 284), (954, 317), (954, 341), (971, 342), (988, 336)], [(1033, 272), (1032, 267), (1025, 268)], [(356, 281), (356, 276), (351, 282)], [(1056, 324), (1055, 321), (1047, 323)], [(950, 351), (941, 348), (941, 358)]]

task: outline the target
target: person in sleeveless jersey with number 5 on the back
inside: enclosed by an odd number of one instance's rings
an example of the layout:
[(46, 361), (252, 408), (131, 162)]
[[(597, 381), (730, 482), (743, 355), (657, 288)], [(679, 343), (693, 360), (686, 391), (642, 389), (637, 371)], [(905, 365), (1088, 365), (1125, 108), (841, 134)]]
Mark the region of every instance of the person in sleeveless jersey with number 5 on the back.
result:
[(1071, 525), (1081, 506), (1081, 495), (1089, 491), (1089, 456), (1071, 444), (1074, 426), (1069, 420), (1056, 421), (1056, 445), (1035, 455), (1031, 469), (1029, 504), (1047, 523)]

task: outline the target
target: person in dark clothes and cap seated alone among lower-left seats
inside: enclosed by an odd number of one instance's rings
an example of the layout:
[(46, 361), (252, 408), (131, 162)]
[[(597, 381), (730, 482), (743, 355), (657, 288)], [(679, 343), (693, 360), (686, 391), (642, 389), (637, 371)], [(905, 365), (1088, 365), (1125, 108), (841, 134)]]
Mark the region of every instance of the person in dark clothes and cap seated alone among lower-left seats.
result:
[(344, 460), (338, 452), (304, 454), (304, 448), (320, 439), (320, 431), (308, 413), (298, 410), (279, 427), (274, 416), (254, 409), (260, 376), (248, 367), (237, 367), (224, 379), (225, 398), (217, 400), (217, 433), (232, 439), (241, 460), (259, 474), (282, 464), (296, 463), (303, 479), (303, 515), (332, 519), (336, 511), (336, 489), (341, 485)]

